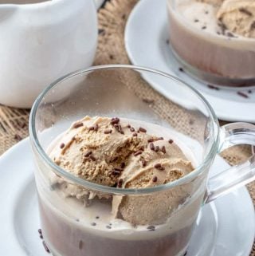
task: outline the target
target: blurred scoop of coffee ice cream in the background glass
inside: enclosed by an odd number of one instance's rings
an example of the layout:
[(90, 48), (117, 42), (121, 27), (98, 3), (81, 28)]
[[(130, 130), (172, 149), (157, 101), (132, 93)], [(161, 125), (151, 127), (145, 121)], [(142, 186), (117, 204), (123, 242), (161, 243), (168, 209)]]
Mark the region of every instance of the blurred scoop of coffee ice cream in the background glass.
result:
[(255, 38), (254, 0), (226, 0), (218, 10), (217, 17), (231, 32)]

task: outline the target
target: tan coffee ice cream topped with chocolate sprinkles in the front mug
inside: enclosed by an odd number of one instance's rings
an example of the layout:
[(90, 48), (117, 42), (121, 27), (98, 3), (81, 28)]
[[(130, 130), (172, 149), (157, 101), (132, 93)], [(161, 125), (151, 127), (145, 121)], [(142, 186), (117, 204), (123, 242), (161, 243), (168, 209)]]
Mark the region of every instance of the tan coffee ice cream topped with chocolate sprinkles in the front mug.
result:
[[(86, 116), (61, 136), (49, 156), (66, 171), (93, 183), (122, 188), (155, 187), (194, 169), (175, 141), (165, 139), (147, 134), (143, 127), (132, 127), (128, 120)], [(56, 179), (65, 195), (84, 199), (86, 204), (97, 195)], [(183, 188), (155, 195), (114, 195), (112, 212), (116, 218), (135, 225), (163, 223), (185, 196)]]

